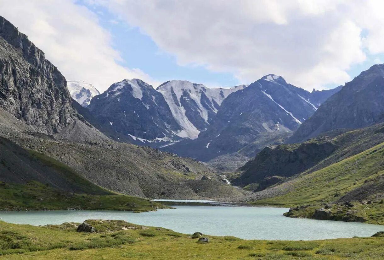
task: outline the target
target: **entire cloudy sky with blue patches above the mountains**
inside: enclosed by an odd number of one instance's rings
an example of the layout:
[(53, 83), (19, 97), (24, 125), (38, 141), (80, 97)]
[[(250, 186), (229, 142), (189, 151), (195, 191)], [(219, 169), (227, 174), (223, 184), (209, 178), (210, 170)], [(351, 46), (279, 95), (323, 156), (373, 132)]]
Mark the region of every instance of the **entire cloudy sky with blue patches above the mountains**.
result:
[(311, 91), (384, 62), (381, 0), (0, 0), (67, 80), (232, 87), (276, 74)]

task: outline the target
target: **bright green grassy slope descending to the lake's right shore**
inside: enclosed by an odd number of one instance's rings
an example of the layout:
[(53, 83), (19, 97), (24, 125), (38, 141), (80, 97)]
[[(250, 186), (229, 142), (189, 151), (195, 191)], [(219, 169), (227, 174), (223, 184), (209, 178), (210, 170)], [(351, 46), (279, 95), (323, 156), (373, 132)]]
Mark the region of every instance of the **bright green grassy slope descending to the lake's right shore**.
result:
[[(360, 154), (311, 173), (301, 173), (289, 182), (284, 195), (255, 201), (256, 204), (297, 205), (330, 203), (364, 183), (384, 174), (384, 142)], [(383, 190), (384, 191), (384, 190)], [(379, 194), (367, 194), (368, 199)]]

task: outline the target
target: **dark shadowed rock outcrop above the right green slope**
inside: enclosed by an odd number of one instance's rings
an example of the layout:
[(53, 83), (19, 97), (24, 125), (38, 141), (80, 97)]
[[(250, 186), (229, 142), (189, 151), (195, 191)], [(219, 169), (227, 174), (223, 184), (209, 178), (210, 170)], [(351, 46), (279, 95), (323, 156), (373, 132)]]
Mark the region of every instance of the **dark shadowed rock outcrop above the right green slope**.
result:
[(244, 172), (232, 182), (239, 186), (260, 183), (262, 185), (258, 190), (262, 190), (278, 182), (276, 179), (274, 183), (266, 177), (290, 177), (303, 172), (328, 157), (335, 148), (334, 142), (326, 136), (302, 144), (265, 147), (255, 159), (240, 168)]

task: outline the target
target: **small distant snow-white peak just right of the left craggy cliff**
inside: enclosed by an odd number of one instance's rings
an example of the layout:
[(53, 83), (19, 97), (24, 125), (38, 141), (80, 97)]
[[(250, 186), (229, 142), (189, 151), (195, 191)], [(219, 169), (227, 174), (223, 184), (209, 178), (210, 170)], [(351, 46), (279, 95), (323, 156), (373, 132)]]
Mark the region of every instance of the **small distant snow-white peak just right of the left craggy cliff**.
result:
[(100, 92), (91, 83), (81, 80), (68, 80), (67, 87), (71, 97), (83, 107), (87, 107), (94, 96), (100, 95)]

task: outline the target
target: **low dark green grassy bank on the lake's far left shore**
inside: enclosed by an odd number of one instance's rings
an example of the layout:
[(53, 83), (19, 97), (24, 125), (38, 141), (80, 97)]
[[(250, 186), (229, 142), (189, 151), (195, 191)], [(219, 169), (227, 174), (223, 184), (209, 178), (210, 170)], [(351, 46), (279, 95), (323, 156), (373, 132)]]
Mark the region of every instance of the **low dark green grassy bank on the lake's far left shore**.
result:
[(66, 193), (36, 181), (27, 184), (0, 182), (0, 211), (68, 208), (142, 212), (167, 208), (167, 206), (127, 195)]

